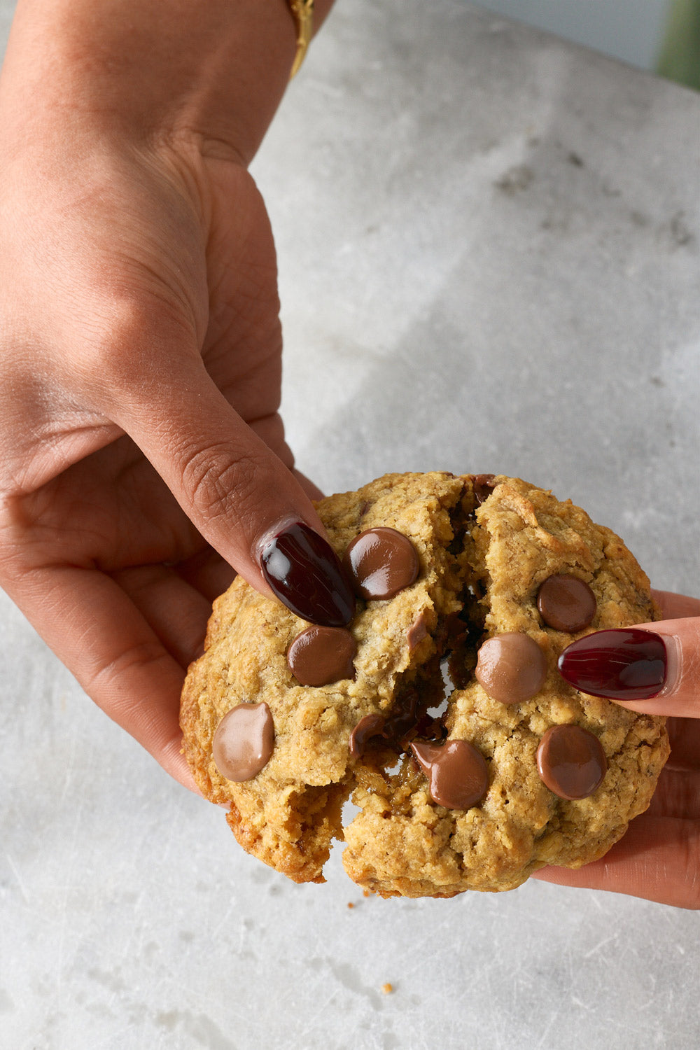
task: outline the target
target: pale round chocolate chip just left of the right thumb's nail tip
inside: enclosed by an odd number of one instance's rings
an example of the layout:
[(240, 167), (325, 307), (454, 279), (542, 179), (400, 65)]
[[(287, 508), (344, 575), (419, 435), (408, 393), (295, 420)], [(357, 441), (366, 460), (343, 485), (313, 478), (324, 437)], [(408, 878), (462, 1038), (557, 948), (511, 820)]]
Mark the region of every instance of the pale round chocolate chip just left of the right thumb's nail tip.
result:
[(479, 650), (476, 681), (492, 700), (519, 704), (538, 693), (547, 676), (545, 654), (528, 634), (509, 631)]

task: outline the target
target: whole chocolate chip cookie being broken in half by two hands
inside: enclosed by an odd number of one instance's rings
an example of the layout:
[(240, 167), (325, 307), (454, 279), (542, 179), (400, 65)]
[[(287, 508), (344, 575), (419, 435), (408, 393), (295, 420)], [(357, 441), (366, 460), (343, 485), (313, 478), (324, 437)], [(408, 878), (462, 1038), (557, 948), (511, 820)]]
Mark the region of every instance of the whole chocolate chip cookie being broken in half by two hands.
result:
[(347, 874), (383, 897), (510, 889), (601, 857), (669, 752), (663, 719), (557, 671), (576, 637), (655, 618), (622, 542), (506, 477), (387, 475), (318, 512), (355, 582), (347, 630), (238, 578), (183, 690), (188, 762), (243, 848), (322, 882), (344, 838)]

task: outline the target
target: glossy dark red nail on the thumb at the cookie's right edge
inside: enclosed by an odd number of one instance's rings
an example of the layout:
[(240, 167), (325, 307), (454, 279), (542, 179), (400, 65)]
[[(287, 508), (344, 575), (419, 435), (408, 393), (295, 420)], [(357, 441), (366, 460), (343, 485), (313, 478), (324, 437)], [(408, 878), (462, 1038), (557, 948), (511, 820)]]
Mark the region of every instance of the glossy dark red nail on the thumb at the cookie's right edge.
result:
[(666, 647), (654, 631), (627, 627), (595, 631), (572, 642), (559, 656), (563, 678), (592, 696), (648, 700), (666, 679)]

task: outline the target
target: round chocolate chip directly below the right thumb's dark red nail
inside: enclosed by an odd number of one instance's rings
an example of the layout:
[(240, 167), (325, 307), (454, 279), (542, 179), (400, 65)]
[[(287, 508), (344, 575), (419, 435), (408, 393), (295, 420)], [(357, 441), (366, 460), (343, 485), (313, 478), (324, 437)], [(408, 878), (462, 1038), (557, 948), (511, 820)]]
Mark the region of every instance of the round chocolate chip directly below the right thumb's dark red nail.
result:
[(608, 772), (597, 736), (580, 726), (552, 726), (537, 748), (537, 771), (559, 798), (588, 798)]

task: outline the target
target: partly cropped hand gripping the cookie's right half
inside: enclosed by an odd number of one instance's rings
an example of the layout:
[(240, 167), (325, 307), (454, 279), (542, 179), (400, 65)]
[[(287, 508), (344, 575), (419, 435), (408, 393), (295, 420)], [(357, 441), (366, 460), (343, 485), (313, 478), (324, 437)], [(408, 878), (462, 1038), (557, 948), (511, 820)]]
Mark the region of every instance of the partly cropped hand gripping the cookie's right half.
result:
[[(645, 624), (666, 639), (670, 660), (660, 693), (615, 702), (669, 715), (671, 757), (649, 810), (600, 860), (581, 868), (544, 867), (533, 878), (566, 886), (610, 889), (677, 907), (700, 907), (700, 601), (665, 591), (654, 594), (666, 617)], [(608, 632), (598, 632), (608, 633)], [(612, 632), (611, 632), (612, 633)], [(588, 635), (596, 638), (596, 634)], [(667, 645), (670, 639), (671, 644)], [(586, 639), (582, 639), (586, 640)], [(577, 643), (574, 643), (576, 646)], [(603, 667), (604, 670), (604, 667)], [(573, 681), (590, 692), (580, 679)], [(654, 691), (650, 685), (646, 692)]]

